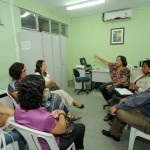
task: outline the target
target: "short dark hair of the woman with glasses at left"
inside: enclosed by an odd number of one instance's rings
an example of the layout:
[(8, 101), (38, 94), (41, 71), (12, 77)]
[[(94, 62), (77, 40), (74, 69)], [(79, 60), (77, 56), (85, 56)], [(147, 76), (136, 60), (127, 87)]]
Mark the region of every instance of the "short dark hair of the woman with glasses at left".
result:
[(9, 75), (10, 75), (13, 79), (19, 80), (23, 68), (24, 68), (24, 64), (23, 64), (23, 63), (15, 62), (15, 63), (13, 63), (13, 64), (10, 66), (10, 68), (9, 68)]

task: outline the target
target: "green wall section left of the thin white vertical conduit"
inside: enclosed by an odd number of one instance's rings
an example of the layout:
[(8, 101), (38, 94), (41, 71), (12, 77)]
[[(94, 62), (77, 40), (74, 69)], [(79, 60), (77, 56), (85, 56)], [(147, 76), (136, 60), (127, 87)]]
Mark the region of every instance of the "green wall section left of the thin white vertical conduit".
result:
[(4, 24), (0, 26), (0, 88), (5, 88), (9, 82), (8, 67), (17, 59), (11, 10), (8, 3), (0, 1), (0, 16)]

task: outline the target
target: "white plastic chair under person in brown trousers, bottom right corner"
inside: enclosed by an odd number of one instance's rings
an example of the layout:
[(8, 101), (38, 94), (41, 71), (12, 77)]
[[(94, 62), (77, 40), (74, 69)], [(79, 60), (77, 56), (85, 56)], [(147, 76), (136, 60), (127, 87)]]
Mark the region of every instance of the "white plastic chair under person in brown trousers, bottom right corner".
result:
[(137, 136), (150, 140), (150, 135), (131, 127), (128, 150), (133, 150), (134, 141)]

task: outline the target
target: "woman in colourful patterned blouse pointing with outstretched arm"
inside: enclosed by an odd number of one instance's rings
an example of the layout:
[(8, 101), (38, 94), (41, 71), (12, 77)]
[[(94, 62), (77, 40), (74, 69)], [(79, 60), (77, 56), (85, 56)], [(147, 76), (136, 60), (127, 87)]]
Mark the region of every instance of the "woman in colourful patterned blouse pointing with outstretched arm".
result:
[(116, 63), (110, 63), (97, 55), (94, 58), (97, 58), (109, 67), (112, 82), (100, 85), (99, 89), (107, 103), (110, 104), (113, 91), (116, 87), (126, 88), (129, 86), (130, 70), (126, 67), (127, 60), (124, 56), (117, 56)]

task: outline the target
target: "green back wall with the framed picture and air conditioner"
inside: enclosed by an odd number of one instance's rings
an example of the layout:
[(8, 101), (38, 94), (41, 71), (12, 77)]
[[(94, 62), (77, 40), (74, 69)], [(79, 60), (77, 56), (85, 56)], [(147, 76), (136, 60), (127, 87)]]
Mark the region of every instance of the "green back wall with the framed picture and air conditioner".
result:
[[(79, 64), (81, 57), (89, 64), (105, 68), (93, 59), (94, 54), (111, 62), (117, 55), (124, 55), (134, 66), (139, 65), (139, 60), (150, 58), (150, 7), (134, 9), (128, 21), (105, 23), (101, 18), (102, 14), (71, 19), (72, 68)], [(110, 30), (120, 27), (125, 28), (124, 44), (110, 45)]]

